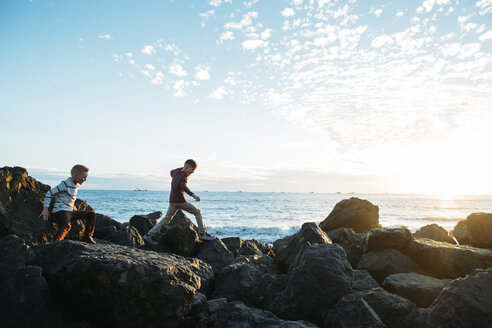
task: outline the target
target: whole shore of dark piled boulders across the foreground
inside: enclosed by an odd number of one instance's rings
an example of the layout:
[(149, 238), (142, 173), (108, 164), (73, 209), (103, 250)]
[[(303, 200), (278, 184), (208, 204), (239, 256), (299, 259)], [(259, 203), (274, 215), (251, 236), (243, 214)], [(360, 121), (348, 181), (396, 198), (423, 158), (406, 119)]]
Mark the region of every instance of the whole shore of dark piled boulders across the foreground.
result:
[(162, 213), (97, 214), (97, 245), (84, 222), (51, 243), (48, 190), (0, 169), (1, 327), (492, 327), (492, 214), (412, 234), (351, 198), (268, 245), (202, 242), (179, 212), (157, 246), (141, 236)]

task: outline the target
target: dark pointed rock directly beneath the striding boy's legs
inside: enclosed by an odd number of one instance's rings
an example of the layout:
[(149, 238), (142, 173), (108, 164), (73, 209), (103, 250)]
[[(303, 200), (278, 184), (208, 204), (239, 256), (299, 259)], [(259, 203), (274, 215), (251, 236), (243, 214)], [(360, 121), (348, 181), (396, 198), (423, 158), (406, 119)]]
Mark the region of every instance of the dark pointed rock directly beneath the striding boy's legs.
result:
[(162, 232), (161, 243), (171, 252), (182, 256), (196, 256), (200, 241), (198, 228), (183, 212), (178, 211)]

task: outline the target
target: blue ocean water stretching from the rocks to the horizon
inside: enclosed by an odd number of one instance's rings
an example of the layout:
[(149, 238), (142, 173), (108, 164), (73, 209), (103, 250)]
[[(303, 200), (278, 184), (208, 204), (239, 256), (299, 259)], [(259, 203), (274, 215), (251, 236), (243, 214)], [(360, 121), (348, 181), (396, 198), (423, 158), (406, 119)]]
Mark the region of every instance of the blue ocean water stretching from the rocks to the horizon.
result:
[[(450, 231), (471, 213), (492, 213), (492, 196), (206, 191), (196, 194), (200, 202), (188, 200), (202, 210), (209, 233), (220, 238), (239, 236), (266, 243), (296, 233), (305, 222), (321, 222), (336, 203), (350, 197), (379, 206), (382, 226), (405, 226), (412, 232), (432, 223)], [(79, 189), (77, 196), (97, 212), (127, 222), (135, 214), (165, 213), (169, 192)], [(187, 216), (195, 222), (193, 215)]]

